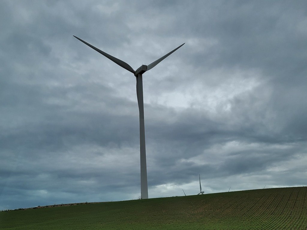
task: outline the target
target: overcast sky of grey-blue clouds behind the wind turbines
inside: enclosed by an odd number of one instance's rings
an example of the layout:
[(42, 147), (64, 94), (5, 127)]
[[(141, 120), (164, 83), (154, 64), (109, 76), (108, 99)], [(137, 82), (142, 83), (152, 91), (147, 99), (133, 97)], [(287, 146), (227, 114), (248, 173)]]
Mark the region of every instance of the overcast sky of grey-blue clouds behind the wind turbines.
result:
[(307, 178), (307, 2), (0, 1), (0, 210)]

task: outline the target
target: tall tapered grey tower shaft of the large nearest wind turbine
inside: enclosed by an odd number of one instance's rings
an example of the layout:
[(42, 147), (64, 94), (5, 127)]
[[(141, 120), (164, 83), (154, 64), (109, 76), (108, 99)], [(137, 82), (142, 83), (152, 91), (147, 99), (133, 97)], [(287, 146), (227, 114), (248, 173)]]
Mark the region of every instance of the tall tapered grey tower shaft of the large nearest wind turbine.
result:
[(140, 113), (141, 199), (148, 199), (142, 74), (138, 74), (136, 82), (138, 109)]

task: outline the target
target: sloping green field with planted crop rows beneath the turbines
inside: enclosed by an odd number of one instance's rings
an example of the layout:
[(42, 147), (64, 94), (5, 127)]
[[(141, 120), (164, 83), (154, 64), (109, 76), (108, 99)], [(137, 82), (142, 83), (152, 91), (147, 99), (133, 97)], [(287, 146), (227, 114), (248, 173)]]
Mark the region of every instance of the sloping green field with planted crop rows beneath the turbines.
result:
[(307, 187), (0, 212), (0, 229), (307, 229)]

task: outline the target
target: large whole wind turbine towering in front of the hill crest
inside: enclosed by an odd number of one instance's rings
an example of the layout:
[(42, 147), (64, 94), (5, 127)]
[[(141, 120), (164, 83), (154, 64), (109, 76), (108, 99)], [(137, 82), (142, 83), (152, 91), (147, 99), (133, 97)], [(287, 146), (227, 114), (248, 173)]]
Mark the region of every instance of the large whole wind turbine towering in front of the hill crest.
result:
[(152, 69), (157, 64), (159, 64), (163, 59), (167, 58), (177, 49), (179, 49), (184, 44), (178, 46), (176, 49), (172, 50), (171, 52), (165, 54), (163, 57), (155, 60), (154, 62), (150, 63), (149, 65), (142, 65), (136, 71), (128, 65), (126, 62), (117, 59), (116, 57), (103, 52), (102, 50), (92, 46), (91, 44), (87, 43), (86, 41), (76, 37), (76, 39), (82, 41), (84, 44), (87, 44), (89, 47), (93, 48), (97, 52), (101, 53), (103, 56), (107, 57), (111, 61), (115, 62), (119, 66), (123, 67), (124, 69), (130, 71), (136, 77), (136, 95), (138, 98), (138, 109), (139, 109), (139, 116), (140, 116), (140, 158), (141, 158), (141, 199), (148, 199), (148, 185), (147, 185), (147, 166), (146, 166), (146, 147), (145, 147), (145, 123), (144, 123), (144, 102), (143, 102), (143, 79), (142, 74), (146, 71)]

